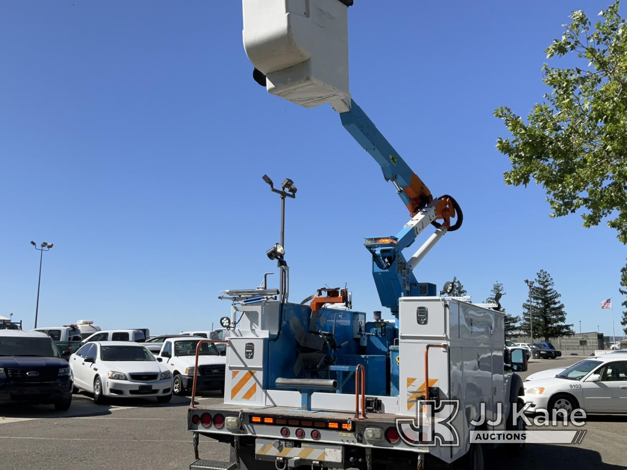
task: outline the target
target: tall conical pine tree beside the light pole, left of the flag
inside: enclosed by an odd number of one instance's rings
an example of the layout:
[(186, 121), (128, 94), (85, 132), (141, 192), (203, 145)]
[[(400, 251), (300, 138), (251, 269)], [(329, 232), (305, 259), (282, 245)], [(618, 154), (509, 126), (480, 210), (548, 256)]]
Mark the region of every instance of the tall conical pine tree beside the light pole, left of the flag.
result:
[(523, 318), (520, 329), (530, 335), (529, 311), (533, 315), (534, 338), (544, 338), (549, 341), (552, 338), (561, 336), (572, 336), (575, 334), (572, 326), (566, 325), (566, 312), (564, 304), (559, 301), (562, 296), (554, 288), (551, 274), (540, 269), (535, 278), (535, 284), (531, 289), (531, 305), (527, 300), (523, 305)]

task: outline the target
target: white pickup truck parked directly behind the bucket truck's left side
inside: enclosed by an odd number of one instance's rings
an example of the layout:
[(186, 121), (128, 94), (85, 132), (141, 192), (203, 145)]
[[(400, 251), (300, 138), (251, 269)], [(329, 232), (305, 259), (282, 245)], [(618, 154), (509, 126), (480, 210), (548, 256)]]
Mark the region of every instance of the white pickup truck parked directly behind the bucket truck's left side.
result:
[[(205, 338), (169, 338), (164, 341), (157, 360), (164, 363), (174, 376), (174, 395), (185, 395), (192, 389), (196, 347)], [(224, 393), (224, 369), (226, 358), (220, 355), (215, 345), (202, 343), (198, 356), (198, 379), (196, 390), (220, 390)]]

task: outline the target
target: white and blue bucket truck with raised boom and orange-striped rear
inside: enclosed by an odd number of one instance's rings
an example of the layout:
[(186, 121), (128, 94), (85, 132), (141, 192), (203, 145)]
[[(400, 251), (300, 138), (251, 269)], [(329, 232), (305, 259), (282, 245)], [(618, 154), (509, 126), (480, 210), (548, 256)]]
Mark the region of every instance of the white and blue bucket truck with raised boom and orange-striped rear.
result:
[[(395, 236), (365, 243), (381, 304), (394, 320), (381, 321), (377, 312), (368, 321), (340, 288), (290, 302), (285, 250), (282, 244), (268, 250), (278, 261), (280, 289), (264, 281), (224, 291), (232, 303), (231, 318), (221, 320), (224, 403), (197, 405), (192, 394), (191, 469), (424, 469), (429, 461), (466, 458), (468, 468), (479, 470), (488, 446), (472, 442), (473, 431), (523, 431), (522, 419), (504, 418), (521, 402), (515, 371), (527, 365), (522, 350), (505, 348), (498, 303), (438, 295), (435, 285), (414, 276), (463, 216), (453, 197), (433, 197), (352, 99), (351, 5), (243, 0), (243, 43), (253, 78), (271, 94), (307, 108), (330, 103), (407, 207), (411, 218)], [(429, 225), (433, 234), (406, 259), (403, 249)], [(229, 461), (201, 459), (201, 436), (228, 443)], [(513, 451), (522, 448), (512, 444)]]

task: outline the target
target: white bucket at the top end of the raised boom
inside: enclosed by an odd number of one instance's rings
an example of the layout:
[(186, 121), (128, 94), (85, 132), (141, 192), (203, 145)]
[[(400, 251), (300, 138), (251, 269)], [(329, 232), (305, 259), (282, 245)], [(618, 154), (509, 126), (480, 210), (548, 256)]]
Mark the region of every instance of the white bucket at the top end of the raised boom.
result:
[(305, 108), (350, 110), (348, 8), (338, 0), (243, 0), (244, 49), (266, 89)]

